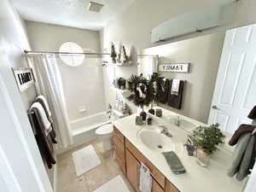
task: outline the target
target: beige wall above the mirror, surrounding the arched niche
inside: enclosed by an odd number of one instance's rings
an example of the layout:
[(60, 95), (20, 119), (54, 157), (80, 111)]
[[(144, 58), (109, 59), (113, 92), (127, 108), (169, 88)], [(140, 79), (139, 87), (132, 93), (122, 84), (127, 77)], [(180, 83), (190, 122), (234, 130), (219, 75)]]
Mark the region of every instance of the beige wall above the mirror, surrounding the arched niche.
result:
[[(235, 2), (235, 0), (137, 0), (115, 20), (112, 20), (101, 32), (102, 50), (110, 52), (110, 43), (116, 45), (125, 44), (129, 50), (134, 47), (137, 53), (142, 53), (143, 49), (153, 47), (159, 44), (151, 44), (150, 31), (155, 26), (160, 25), (165, 20), (181, 15), (183, 13), (204, 9), (206, 7), (218, 6), (223, 3)], [(174, 38), (162, 44), (181, 41), (183, 39), (195, 38), (197, 36), (211, 34), (213, 32), (223, 32), (224, 30), (235, 27), (245, 26), (256, 22), (256, 2), (255, 0), (241, 0), (237, 3), (236, 17), (230, 26), (217, 27), (201, 34), (188, 35), (180, 38)], [(131, 71), (125, 67), (120, 71), (125, 73), (125, 76), (131, 76)], [(106, 72), (104, 71), (106, 74)], [(134, 71), (132, 73), (135, 73)], [(106, 75), (105, 75), (106, 77)], [(105, 79), (108, 79), (105, 78)], [(105, 80), (106, 82), (106, 80)], [(109, 84), (105, 84), (106, 103), (115, 100), (115, 93), (109, 90)], [(205, 119), (202, 118), (201, 119)]]

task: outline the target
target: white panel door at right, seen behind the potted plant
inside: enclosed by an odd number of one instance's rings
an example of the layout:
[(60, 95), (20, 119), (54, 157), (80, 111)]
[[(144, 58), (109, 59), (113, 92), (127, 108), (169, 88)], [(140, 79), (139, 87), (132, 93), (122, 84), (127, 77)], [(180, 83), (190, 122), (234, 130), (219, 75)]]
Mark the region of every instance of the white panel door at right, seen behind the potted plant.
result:
[(256, 105), (256, 25), (226, 32), (208, 124), (233, 133)]

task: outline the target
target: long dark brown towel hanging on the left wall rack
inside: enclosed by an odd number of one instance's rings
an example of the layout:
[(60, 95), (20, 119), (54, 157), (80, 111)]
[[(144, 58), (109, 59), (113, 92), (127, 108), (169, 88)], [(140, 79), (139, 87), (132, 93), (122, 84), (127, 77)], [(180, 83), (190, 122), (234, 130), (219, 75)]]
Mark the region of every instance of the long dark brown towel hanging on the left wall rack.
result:
[(38, 109), (32, 108), (31, 112), (34, 112), (31, 114), (31, 120), (33, 129), (36, 131), (35, 137), (38, 143), (40, 154), (48, 168), (51, 169), (52, 165), (56, 163), (51, 132), (49, 132), (48, 136), (45, 135), (44, 125), (40, 119), (40, 115), (38, 115)]

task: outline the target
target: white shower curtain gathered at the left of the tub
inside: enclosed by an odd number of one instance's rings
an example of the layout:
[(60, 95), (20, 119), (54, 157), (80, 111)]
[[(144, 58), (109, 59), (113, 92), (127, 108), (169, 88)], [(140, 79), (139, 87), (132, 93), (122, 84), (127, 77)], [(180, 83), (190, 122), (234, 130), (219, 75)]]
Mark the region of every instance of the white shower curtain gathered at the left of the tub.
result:
[(46, 96), (53, 112), (53, 124), (59, 138), (58, 148), (66, 148), (73, 144), (73, 135), (68, 122), (61, 73), (55, 55), (30, 55), (27, 59), (32, 62), (38, 94)]

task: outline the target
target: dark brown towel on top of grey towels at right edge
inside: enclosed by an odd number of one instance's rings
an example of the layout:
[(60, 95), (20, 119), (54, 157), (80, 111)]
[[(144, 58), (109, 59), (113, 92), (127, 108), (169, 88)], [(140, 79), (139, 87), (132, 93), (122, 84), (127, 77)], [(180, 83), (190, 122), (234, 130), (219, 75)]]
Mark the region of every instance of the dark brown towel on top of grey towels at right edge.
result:
[[(239, 138), (248, 133), (248, 132), (253, 132), (253, 130), (255, 129), (256, 125), (246, 125), (246, 124), (242, 124), (239, 126), (239, 128), (235, 131), (235, 133), (233, 134), (233, 136), (230, 138), (230, 142), (229, 144), (231, 146), (236, 145), (236, 143), (238, 142)], [(256, 145), (255, 145), (256, 146)]]

